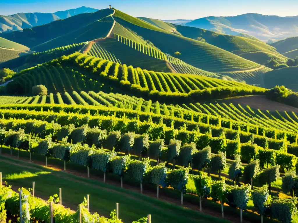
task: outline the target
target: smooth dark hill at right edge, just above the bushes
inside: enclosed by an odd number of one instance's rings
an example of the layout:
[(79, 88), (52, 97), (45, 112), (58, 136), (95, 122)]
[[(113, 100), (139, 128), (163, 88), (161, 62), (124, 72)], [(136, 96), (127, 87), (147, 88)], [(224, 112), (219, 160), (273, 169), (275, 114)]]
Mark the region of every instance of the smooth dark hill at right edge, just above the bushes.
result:
[(293, 91), (298, 91), (298, 66), (284, 67), (277, 70), (272, 70), (263, 75), (264, 87), (271, 88), (276, 85), (284, 85)]

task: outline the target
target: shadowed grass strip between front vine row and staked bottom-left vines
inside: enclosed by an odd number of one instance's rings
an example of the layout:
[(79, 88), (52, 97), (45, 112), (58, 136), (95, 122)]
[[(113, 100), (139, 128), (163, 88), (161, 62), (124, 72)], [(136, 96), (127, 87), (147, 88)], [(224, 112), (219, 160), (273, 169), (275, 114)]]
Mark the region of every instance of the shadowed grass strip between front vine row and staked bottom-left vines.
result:
[(45, 198), (58, 193), (58, 188), (62, 188), (62, 202), (70, 207), (76, 207), (88, 193), (91, 211), (106, 217), (114, 209), (115, 203), (119, 202), (119, 217), (124, 222), (132, 222), (149, 213), (157, 223), (228, 222), (95, 180), (9, 158), (0, 159), (3, 180), (9, 184), (30, 188), (32, 181), (35, 181), (35, 195)]

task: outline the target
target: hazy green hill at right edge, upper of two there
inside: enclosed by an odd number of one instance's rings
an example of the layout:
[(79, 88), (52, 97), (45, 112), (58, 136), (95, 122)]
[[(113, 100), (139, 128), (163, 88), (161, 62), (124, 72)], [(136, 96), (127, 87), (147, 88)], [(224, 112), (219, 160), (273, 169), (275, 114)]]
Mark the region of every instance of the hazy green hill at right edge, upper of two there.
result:
[(280, 40), (275, 43), (271, 43), (271, 45), (275, 47), (278, 52), (292, 59), (296, 59), (296, 56), (298, 56), (298, 37)]

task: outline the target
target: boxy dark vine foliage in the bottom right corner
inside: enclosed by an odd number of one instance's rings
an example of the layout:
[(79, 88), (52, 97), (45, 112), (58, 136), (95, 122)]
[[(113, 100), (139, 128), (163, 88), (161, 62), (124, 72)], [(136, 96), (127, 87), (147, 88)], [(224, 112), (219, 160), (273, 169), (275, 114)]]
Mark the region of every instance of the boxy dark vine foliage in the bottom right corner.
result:
[(272, 200), (271, 213), (272, 218), (282, 223), (291, 223), (293, 217), (297, 214), (297, 199), (280, 199)]

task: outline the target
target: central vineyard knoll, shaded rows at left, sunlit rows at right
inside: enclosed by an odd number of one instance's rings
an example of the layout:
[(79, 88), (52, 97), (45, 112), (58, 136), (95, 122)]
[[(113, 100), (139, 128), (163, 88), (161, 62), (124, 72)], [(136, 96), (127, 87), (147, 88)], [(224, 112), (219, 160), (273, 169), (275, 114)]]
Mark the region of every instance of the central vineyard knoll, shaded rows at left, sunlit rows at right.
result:
[[(213, 87), (264, 91), (264, 89), (235, 81), (127, 67), (80, 53), (63, 56), (58, 61), (54, 60), (33, 69), (22, 70), (20, 74), (7, 85), (10, 93), (30, 93), (32, 86), (37, 84), (45, 85), (48, 92), (52, 93), (72, 92), (73, 90), (99, 91), (103, 87), (108, 89), (110, 84), (144, 96), (148, 94), (156, 97), (172, 95), (178, 98), (187, 97), (188, 93), (194, 90)], [(114, 90), (116, 91), (117, 88)]]

